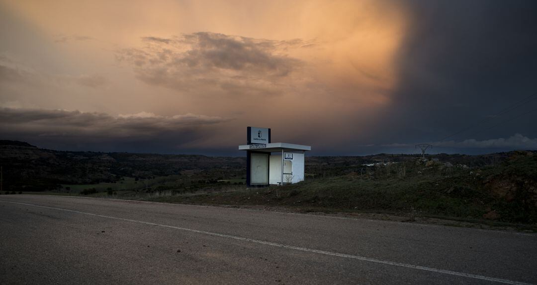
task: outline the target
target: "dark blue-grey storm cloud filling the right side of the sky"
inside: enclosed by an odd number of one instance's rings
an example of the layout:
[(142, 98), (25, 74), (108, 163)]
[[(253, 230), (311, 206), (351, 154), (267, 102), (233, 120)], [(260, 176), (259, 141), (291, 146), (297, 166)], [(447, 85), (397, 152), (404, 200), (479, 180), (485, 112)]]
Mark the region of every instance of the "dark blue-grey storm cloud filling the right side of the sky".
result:
[(449, 140), (537, 137), (537, 100), (491, 116), (537, 92), (537, 2), (408, 3), (398, 86), (379, 138), (438, 141), (466, 127)]

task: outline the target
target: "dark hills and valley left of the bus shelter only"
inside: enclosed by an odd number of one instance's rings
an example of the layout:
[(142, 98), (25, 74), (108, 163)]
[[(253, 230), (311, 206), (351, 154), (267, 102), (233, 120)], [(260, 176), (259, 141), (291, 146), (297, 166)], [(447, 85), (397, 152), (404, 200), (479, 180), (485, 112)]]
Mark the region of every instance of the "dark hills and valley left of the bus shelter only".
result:
[(189, 169), (245, 168), (243, 157), (54, 151), (14, 140), (0, 140), (0, 159), (4, 190), (10, 191), (115, 182), (122, 176), (168, 176)]

